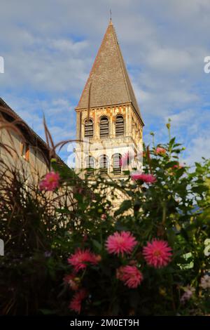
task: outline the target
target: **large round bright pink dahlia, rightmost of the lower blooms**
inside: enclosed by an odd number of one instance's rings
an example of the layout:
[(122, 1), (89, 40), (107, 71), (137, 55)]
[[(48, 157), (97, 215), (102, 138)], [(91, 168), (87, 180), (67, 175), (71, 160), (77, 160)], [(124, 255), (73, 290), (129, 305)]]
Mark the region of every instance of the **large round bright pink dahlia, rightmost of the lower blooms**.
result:
[(162, 268), (171, 261), (172, 249), (166, 241), (158, 241), (153, 239), (153, 242), (148, 242), (143, 248), (143, 255), (148, 265), (155, 268)]

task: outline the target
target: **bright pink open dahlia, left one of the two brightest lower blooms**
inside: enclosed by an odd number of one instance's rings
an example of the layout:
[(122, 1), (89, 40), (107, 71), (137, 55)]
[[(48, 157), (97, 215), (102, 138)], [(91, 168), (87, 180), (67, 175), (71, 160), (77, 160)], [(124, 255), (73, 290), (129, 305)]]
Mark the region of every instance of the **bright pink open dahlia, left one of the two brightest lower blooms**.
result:
[(122, 253), (132, 253), (137, 241), (131, 232), (115, 232), (106, 240), (106, 249), (109, 253), (119, 256)]

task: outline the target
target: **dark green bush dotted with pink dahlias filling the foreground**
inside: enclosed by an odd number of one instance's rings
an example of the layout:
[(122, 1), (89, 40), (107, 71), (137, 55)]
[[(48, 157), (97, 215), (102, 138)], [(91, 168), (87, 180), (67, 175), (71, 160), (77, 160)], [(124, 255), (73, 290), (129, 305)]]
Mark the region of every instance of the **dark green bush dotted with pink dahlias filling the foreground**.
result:
[(52, 177), (21, 198), (14, 177), (0, 201), (1, 313), (208, 315), (210, 161), (190, 169), (181, 151), (175, 138), (144, 147), (144, 173), (121, 181), (82, 181), (53, 161)]

